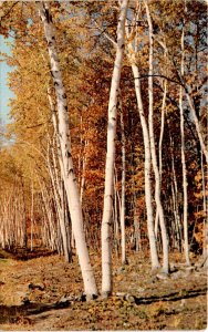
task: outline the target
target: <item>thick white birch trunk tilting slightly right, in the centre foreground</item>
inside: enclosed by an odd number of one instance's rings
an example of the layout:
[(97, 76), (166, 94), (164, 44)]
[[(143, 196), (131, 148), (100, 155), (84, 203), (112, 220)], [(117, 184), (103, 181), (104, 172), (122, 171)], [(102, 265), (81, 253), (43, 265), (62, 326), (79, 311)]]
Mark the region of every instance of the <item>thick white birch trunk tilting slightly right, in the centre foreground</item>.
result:
[(116, 58), (112, 76), (108, 125), (107, 125), (107, 153), (105, 165), (105, 193), (102, 220), (102, 293), (108, 295), (112, 292), (112, 258), (111, 258), (111, 231), (113, 211), (113, 186), (114, 186), (114, 162), (115, 162), (115, 135), (117, 116), (117, 96), (119, 89), (121, 70), (124, 54), (125, 20), (128, 0), (121, 3), (121, 13), (117, 24)]

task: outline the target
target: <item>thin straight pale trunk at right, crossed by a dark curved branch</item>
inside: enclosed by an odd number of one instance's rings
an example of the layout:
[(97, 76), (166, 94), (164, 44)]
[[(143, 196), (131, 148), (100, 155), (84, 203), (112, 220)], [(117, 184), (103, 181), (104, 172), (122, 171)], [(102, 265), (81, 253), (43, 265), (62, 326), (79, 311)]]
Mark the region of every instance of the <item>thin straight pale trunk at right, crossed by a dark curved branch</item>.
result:
[[(184, 27), (181, 32), (181, 76), (184, 76)], [(186, 158), (185, 158), (185, 137), (184, 137), (184, 108), (183, 108), (183, 95), (184, 89), (179, 90), (179, 110), (180, 110), (180, 134), (181, 134), (181, 164), (183, 164), (183, 190), (184, 190), (184, 251), (186, 264), (190, 264), (189, 261), (189, 248), (188, 248), (188, 193), (187, 193), (187, 176), (186, 176)]]

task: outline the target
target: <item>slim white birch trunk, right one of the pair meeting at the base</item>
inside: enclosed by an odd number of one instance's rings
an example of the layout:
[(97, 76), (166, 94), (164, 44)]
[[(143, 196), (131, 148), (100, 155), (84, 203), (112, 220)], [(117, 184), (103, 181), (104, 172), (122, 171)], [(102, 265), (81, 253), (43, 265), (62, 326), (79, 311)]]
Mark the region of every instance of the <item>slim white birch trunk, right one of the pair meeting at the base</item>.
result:
[(162, 241), (163, 241), (163, 270), (168, 273), (169, 258), (168, 258), (168, 237), (167, 229), (165, 225), (164, 218), (164, 209), (160, 200), (160, 178), (159, 178), (159, 169), (157, 166), (157, 156), (155, 148), (155, 137), (154, 137), (154, 124), (153, 124), (153, 105), (154, 105), (154, 96), (153, 96), (153, 23), (148, 9), (148, 4), (144, 1), (146, 13), (147, 13), (147, 22), (149, 28), (149, 72), (148, 72), (148, 98), (149, 98), (149, 114), (148, 114), (148, 127), (149, 127), (149, 142), (150, 142), (150, 155), (153, 162), (153, 169), (155, 174), (155, 200), (159, 215), (159, 225), (162, 229)]

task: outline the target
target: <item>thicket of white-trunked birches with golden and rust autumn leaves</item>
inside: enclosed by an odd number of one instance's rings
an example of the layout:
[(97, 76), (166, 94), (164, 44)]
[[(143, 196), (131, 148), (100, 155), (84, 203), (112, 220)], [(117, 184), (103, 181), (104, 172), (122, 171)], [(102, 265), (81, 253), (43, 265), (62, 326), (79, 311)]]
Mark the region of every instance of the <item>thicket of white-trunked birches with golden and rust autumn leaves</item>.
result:
[[(206, 3), (7, 1), (11, 123), (0, 141), (0, 246), (207, 255)], [(108, 108), (108, 115), (107, 115)], [(4, 139), (8, 144), (4, 144)], [(102, 246), (101, 246), (102, 243)]]

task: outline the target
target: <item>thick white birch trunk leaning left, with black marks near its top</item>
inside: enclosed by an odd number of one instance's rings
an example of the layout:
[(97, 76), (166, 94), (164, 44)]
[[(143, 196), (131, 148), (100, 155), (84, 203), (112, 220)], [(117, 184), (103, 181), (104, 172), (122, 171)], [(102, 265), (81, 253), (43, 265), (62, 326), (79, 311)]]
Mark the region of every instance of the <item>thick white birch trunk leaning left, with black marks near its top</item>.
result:
[(56, 52), (54, 24), (49, 10), (50, 2), (37, 1), (37, 3), (44, 27), (44, 34), (48, 42), (48, 51), (51, 63), (51, 74), (56, 93), (59, 137), (63, 160), (62, 177), (67, 195), (72, 220), (72, 230), (76, 242), (76, 251), (84, 281), (84, 290), (87, 297), (93, 297), (94, 294), (97, 294), (97, 289), (95, 284), (94, 273), (90, 263), (89, 250), (83, 228), (82, 207), (72, 162), (67, 102)]

